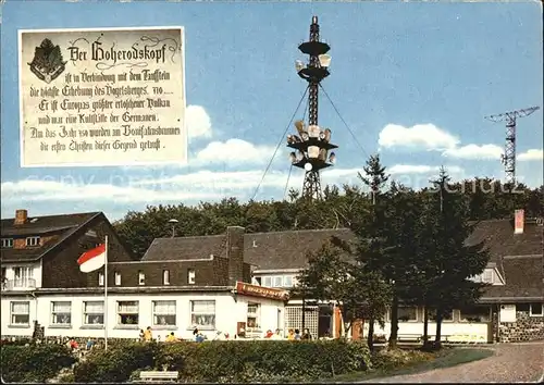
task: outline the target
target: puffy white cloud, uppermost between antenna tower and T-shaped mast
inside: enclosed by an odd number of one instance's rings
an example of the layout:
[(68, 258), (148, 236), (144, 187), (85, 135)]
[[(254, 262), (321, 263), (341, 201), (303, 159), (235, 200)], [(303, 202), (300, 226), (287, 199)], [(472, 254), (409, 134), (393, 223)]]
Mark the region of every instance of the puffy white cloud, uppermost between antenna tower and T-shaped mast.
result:
[(416, 124), (412, 127), (387, 124), (380, 133), (378, 144), (383, 148), (445, 150), (455, 148), (459, 139), (434, 124)]

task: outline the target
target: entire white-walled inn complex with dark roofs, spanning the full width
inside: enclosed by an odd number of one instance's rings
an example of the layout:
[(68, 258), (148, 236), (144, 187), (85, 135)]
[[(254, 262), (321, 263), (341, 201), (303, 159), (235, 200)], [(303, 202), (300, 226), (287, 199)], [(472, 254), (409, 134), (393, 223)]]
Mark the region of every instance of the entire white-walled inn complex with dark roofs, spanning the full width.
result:
[[(544, 338), (543, 226), (524, 220), (515, 234), (508, 220), (477, 223), (468, 244), (483, 243), (491, 259), (475, 281), (490, 285), (472, 307), (446, 314), (442, 335), (452, 341), (522, 341)], [(104, 272), (81, 273), (77, 258), (109, 236), (108, 320), (104, 320)], [(332, 237), (355, 239), (349, 229), (247, 234), (230, 226), (225, 234), (158, 238), (141, 260), (134, 259), (101, 213), (28, 219), (17, 211), (2, 220), (2, 336), (136, 337), (151, 326), (156, 335), (187, 336), (194, 327), (212, 336), (223, 332), (246, 337), (268, 330), (308, 327), (317, 337), (343, 334), (333, 300), (316, 302), (286, 293), (307, 266), (308, 251)], [(239, 285), (244, 286), (245, 289)], [(37, 321), (35, 327), (34, 321)], [(429, 335), (435, 333), (429, 309)], [(368, 331), (364, 320), (351, 328)], [(391, 322), (374, 325), (388, 338)], [(399, 308), (399, 339), (423, 333), (423, 309)]]

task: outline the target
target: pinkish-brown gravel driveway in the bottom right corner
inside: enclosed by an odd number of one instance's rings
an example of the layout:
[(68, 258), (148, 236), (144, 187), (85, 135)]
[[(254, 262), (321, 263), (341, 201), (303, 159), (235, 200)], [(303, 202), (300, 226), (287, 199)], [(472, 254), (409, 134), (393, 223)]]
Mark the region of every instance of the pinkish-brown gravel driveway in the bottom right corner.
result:
[(364, 383), (517, 383), (544, 374), (544, 341), (502, 344), (493, 357), (429, 372), (375, 378)]

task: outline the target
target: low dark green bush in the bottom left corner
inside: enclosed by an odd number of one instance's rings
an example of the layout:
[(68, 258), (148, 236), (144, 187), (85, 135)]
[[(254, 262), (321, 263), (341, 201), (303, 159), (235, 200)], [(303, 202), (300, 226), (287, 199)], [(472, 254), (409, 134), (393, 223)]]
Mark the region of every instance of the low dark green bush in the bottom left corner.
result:
[(3, 382), (45, 382), (76, 359), (64, 345), (5, 345), (1, 350)]

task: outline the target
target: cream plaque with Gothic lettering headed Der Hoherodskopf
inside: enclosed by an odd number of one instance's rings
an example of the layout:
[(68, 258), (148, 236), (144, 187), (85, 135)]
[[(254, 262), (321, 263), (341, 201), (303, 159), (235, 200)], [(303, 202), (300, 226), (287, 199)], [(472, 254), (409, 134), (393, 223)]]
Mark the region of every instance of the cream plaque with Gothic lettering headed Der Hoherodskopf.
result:
[(185, 163), (183, 27), (18, 33), (21, 166)]

